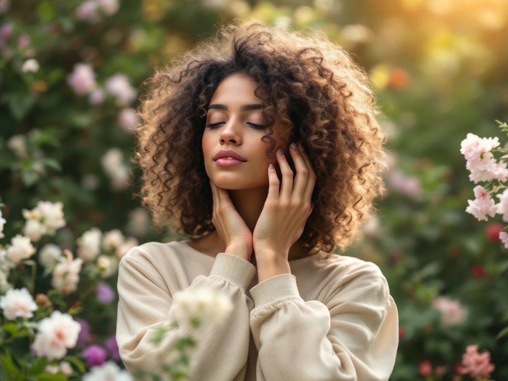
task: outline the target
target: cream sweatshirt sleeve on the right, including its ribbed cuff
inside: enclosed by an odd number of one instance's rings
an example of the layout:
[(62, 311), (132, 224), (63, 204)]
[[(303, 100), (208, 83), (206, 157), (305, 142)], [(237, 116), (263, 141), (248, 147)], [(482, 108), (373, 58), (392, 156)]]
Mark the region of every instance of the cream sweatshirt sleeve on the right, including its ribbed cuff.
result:
[(265, 279), (250, 294), (258, 381), (389, 379), (398, 312), (378, 268), (345, 284), (336, 281), (323, 303), (304, 301), (289, 273)]

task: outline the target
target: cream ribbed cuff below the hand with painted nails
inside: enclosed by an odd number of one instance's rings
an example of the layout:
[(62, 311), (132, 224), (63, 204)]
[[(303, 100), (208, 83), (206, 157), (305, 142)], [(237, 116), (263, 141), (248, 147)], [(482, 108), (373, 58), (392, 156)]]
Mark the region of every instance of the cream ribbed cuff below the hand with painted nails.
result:
[(279, 274), (263, 280), (250, 289), (254, 305), (262, 306), (288, 296), (300, 297), (296, 287), (296, 276)]

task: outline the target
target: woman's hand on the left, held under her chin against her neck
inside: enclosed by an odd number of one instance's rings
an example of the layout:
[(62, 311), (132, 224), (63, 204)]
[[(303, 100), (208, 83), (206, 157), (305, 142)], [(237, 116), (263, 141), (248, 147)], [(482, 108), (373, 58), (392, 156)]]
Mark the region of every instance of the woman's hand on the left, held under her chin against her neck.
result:
[(219, 188), (210, 180), (213, 197), (212, 224), (226, 244), (226, 251), (246, 261), (252, 256), (252, 232), (238, 214), (228, 190)]

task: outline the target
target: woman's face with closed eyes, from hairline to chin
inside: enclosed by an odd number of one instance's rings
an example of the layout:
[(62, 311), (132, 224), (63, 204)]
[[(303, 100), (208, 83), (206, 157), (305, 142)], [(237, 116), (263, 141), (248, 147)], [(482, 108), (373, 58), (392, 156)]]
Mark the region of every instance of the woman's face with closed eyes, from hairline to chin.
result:
[[(268, 166), (277, 164), (275, 155), (273, 159), (267, 157), (270, 143), (261, 141), (266, 135), (265, 129), (257, 126), (266, 125), (261, 114), (262, 100), (254, 94), (257, 86), (258, 83), (246, 74), (232, 74), (219, 83), (210, 100), (202, 139), (203, 155), (208, 177), (220, 188), (266, 186)], [(278, 147), (287, 153), (276, 126), (273, 130), (274, 153)], [(214, 157), (223, 149), (234, 150), (245, 161), (235, 166), (220, 166), (220, 161), (215, 162)]]

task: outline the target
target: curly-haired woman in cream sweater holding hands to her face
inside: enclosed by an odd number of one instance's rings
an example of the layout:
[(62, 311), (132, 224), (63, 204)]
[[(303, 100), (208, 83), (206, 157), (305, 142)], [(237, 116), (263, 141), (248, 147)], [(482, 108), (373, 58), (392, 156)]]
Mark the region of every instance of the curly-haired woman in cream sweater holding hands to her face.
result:
[(192, 238), (122, 258), (126, 368), (160, 367), (171, 339), (149, 337), (172, 295), (206, 287), (234, 309), (220, 327), (205, 322), (196, 380), (387, 380), (398, 313), (386, 278), (333, 253), (383, 189), (386, 135), (365, 73), (323, 36), (249, 22), (221, 26), (148, 84), (143, 204)]

